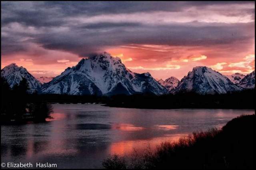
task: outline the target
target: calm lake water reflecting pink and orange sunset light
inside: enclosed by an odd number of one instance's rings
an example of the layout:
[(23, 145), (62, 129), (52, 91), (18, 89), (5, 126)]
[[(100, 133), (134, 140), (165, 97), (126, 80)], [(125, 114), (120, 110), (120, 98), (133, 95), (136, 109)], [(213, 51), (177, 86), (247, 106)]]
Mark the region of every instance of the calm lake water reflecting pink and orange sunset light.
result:
[(254, 110), (124, 109), (54, 104), (47, 123), (1, 126), (2, 162), (56, 163), (58, 168), (102, 168), (109, 154), (129, 155), (195, 130), (222, 127)]

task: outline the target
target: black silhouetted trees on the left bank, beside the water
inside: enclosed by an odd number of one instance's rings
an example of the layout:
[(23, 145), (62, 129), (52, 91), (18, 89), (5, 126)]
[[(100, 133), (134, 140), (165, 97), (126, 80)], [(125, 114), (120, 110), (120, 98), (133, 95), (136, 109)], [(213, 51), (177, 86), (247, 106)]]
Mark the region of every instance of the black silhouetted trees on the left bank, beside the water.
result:
[(36, 95), (28, 94), (29, 85), (26, 79), (19, 84), (10, 85), (1, 77), (1, 123), (26, 123), (28, 121), (44, 122), (50, 118), (52, 106)]

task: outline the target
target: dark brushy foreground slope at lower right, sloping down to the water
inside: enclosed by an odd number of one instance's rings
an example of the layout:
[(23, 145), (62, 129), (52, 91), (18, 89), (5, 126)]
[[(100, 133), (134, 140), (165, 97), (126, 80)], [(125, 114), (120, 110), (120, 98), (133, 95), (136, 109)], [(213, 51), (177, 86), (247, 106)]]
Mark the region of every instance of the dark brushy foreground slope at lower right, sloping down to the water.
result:
[(240, 116), (221, 130), (194, 132), (130, 159), (113, 155), (102, 165), (109, 169), (252, 169), (254, 123), (255, 114)]

